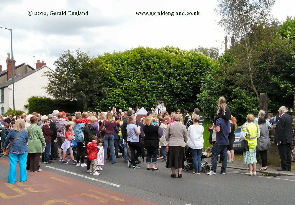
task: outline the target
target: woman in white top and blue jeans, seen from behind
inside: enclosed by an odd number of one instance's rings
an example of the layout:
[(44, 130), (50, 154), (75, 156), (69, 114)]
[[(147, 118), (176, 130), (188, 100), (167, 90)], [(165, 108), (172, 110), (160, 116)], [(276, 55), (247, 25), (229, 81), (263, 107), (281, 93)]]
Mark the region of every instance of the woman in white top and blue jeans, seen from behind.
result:
[(189, 147), (191, 148), (191, 153), (194, 158), (194, 174), (201, 173), (201, 155), (204, 147), (204, 138), (203, 132), (204, 127), (199, 125), (199, 115), (193, 115), (193, 122), (191, 126), (189, 126), (188, 134), (189, 134)]

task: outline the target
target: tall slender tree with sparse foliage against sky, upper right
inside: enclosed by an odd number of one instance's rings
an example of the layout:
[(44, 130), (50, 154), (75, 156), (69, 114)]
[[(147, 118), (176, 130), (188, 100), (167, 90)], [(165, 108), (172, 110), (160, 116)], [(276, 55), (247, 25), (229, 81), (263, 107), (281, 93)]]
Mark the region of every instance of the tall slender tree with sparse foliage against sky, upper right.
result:
[[(220, 24), (229, 34), (244, 40), (243, 49), (245, 65), (247, 65), (249, 81), (244, 83), (255, 91), (259, 98), (258, 85), (254, 83), (253, 72), (257, 69), (253, 63), (255, 47), (260, 40), (260, 30), (268, 22), (271, 22), (270, 9), (274, 0), (219, 0), (221, 15)], [(242, 69), (242, 68), (241, 68)]]

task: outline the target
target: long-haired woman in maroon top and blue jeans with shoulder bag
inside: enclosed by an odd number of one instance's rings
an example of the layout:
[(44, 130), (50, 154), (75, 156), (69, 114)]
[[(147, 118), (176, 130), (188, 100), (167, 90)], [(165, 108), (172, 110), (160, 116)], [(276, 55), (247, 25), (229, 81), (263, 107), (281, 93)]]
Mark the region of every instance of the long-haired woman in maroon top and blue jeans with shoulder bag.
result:
[(114, 149), (114, 133), (117, 127), (116, 124), (117, 122), (114, 120), (113, 114), (111, 112), (107, 112), (106, 119), (99, 128), (99, 130), (101, 130), (104, 126), (106, 127), (106, 131), (104, 133), (104, 161), (106, 162), (107, 149), (109, 144), (111, 150), (112, 164), (116, 163), (116, 155)]

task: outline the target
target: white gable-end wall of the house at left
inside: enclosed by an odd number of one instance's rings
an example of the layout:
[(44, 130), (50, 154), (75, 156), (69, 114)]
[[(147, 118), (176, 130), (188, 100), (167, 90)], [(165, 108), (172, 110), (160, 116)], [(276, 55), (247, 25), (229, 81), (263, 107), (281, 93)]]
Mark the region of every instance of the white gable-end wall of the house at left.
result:
[[(16, 110), (22, 110), (27, 113), (28, 109), (24, 105), (28, 104), (28, 99), (32, 96), (53, 98), (42, 88), (46, 87), (48, 83), (48, 77), (42, 76), (47, 71), (52, 72), (49, 68), (44, 67), (14, 83), (14, 105)], [(9, 99), (9, 104), (7, 108), (5, 106), (5, 112), (8, 107), (13, 108), (12, 84), (8, 86), (8, 90), (9, 97), (7, 96), (7, 100)], [(4, 102), (6, 103), (6, 96)]]

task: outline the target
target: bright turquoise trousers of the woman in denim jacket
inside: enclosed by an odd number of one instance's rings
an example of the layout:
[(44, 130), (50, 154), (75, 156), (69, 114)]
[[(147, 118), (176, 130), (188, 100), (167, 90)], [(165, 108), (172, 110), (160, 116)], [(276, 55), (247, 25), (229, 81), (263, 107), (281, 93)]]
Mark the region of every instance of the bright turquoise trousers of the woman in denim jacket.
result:
[[(23, 154), (15, 154), (12, 152), (9, 152), (9, 162), (10, 162), (10, 169), (9, 169), (9, 175), (8, 175), (8, 183), (14, 183), (17, 181), (17, 158), (19, 159), (19, 181), (27, 181), (28, 175), (27, 175), (27, 169), (26, 169), (26, 163), (27, 163), (27, 155), (28, 152), (25, 152)], [(39, 157), (40, 160), (40, 157)]]

